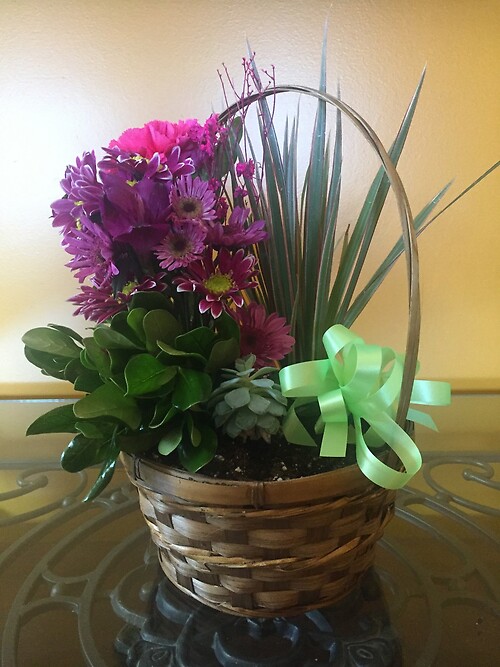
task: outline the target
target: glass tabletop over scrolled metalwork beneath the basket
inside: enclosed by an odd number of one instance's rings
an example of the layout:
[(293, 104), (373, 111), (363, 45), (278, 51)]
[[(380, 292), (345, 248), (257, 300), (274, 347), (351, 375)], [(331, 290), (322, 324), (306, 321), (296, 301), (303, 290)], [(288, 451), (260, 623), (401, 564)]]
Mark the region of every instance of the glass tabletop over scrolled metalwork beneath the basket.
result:
[(456, 397), (439, 436), (417, 433), (424, 466), (357, 591), (265, 620), (204, 607), (166, 580), (123, 470), (80, 502), (95, 473), (59, 469), (67, 438), (23, 437), (54, 406), (0, 401), (3, 667), (499, 663), (500, 397)]

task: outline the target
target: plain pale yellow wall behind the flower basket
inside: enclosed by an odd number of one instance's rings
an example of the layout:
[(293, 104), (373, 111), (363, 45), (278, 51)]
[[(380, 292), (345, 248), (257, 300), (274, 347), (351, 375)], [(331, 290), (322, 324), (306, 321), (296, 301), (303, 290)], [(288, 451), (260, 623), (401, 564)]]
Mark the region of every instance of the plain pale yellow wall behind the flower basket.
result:
[[(65, 165), (126, 127), (220, 109), (216, 70), (224, 62), (239, 76), (247, 37), (279, 82), (314, 85), (326, 18), (330, 87), (340, 81), (386, 145), (427, 64), (400, 163), (415, 211), (449, 179), (457, 194), (498, 159), (496, 0), (2, 0), (0, 395), (60, 394), (24, 360), (20, 337), (47, 322), (84, 327), (65, 303), (76, 282), (49, 221)], [(363, 151), (350, 159), (358, 200)], [(422, 377), (500, 384), (499, 179), (500, 170), (421, 237)], [(404, 276), (401, 265), (359, 321), (369, 340), (404, 346)]]

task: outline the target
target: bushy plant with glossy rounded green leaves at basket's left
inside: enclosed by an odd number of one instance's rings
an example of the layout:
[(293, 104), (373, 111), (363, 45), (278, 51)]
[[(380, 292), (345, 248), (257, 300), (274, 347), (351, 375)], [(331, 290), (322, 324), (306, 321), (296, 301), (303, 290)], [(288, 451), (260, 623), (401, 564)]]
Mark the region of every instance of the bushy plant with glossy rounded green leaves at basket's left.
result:
[(158, 447), (164, 455), (177, 452), (187, 470), (199, 470), (217, 447), (207, 401), (220, 369), (238, 356), (238, 336), (229, 316), (216, 329), (183, 331), (157, 293), (134, 295), (127, 312), (84, 338), (53, 324), (32, 329), (23, 337), (27, 359), (85, 395), (36, 419), (27, 434), (76, 434), (62, 467), (101, 465), (86, 500), (109, 483), (120, 451)]

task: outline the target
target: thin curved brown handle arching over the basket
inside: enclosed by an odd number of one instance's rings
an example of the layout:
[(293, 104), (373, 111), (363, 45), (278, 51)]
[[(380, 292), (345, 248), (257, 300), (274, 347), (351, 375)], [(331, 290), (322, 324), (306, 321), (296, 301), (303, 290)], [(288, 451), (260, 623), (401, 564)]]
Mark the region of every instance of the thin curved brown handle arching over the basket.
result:
[(359, 115), (357, 111), (355, 111), (342, 100), (334, 97), (333, 95), (330, 95), (329, 93), (322, 92), (308, 86), (295, 84), (275, 86), (254, 93), (253, 95), (248, 95), (247, 97), (244, 97), (230, 105), (221, 114), (219, 114), (219, 122), (227, 122), (227, 120), (234, 117), (239, 111), (249, 107), (251, 104), (259, 101), (264, 97), (289, 92), (296, 92), (315, 97), (318, 100), (331, 104), (340, 112), (345, 114), (354, 124), (354, 126), (361, 132), (363, 137), (368, 141), (370, 146), (377, 154), (382, 166), (384, 167), (385, 173), (387, 174), (387, 178), (389, 179), (394, 196), (396, 197), (402, 229), (408, 278), (408, 329), (406, 336), (406, 354), (403, 367), (403, 378), (401, 382), (401, 394), (396, 416), (396, 422), (398, 425), (404, 427), (406, 414), (410, 404), (413, 381), (417, 369), (418, 345), (420, 339), (420, 286), (417, 236), (415, 233), (413, 215), (411, 213), (406, 191), (396, 170), (396, 167), (394, 166), (394, 163), (389, 157), (389, 154), (385, 150), (375, 131), (364, 120), (364, 118)]

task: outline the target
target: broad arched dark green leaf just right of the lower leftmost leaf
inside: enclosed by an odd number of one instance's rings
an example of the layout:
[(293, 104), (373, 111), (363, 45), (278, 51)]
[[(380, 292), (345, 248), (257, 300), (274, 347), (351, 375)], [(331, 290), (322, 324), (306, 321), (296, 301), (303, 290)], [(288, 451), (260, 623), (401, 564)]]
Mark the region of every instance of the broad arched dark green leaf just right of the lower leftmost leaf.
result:
[(95, 417), (114, 417), (135, 430), (141, 423), (141, 411), (131, 396), (114, 384), (98, 387), (92, 394), (81, 398), (74, 405), (75, 415), (79, 419)]

